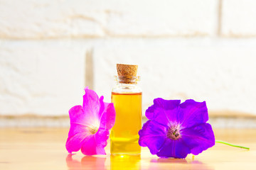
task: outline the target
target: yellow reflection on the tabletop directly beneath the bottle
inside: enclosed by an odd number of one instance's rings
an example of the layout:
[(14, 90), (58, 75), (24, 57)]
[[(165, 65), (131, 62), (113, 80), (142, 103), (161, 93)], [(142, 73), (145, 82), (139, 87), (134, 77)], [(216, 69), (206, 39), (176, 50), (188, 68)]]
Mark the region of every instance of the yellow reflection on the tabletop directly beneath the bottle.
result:
[(110, 167), (111, 170), (119, 169), (141, 169), (140, 154), (111, 154)]

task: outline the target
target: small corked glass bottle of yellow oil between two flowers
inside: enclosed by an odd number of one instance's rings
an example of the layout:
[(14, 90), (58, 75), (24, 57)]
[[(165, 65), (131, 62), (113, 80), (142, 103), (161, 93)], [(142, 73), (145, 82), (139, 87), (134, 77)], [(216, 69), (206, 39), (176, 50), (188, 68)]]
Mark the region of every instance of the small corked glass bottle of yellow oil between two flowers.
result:
[(137, 65), (117, 64), (116, 86), (111, 101), (116, 121), (110, 133), (111, 154), (140, 154), (138, 132), (142, 128), (142, 90)]

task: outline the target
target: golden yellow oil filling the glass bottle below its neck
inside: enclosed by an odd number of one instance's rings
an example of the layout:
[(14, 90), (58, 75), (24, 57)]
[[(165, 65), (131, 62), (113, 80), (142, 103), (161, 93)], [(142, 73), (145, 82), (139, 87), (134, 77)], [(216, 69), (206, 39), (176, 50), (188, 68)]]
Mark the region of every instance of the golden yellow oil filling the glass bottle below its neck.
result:
[(142, 128), (142, 93), (112, 92), (116, 121), (110, 134), (111, 154), (140, 154), (138, 132)]

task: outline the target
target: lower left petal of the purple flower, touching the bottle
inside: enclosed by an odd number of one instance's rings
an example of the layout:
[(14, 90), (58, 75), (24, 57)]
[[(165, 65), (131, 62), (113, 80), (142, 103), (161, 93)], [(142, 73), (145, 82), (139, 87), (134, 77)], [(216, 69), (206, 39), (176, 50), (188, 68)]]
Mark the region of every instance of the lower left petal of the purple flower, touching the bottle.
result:
[(151, 154), (156, 154), (166, 138), (166, 127), (148, 120), (139, 130), (139, 145), (149, 147)]

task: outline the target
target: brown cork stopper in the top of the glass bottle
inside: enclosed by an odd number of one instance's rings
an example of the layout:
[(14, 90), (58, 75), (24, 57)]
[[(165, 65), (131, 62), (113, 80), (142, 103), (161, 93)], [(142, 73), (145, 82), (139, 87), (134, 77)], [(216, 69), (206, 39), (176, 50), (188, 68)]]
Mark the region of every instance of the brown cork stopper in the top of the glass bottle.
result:
[(135, 84), (137, 77), (137, 65), (117, 64), (117, 75), (119, 82), (124, 84)]

